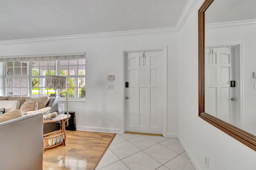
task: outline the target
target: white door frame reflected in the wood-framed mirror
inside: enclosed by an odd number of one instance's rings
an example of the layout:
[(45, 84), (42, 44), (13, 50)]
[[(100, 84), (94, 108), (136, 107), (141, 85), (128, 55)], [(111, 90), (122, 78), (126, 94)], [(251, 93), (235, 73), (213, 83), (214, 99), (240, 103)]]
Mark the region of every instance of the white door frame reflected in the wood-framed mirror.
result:
[[(243, 58), (242, 58), (242, 42), (233, 42), (233, 43), (220, 43), (220, 44), (209, 44), (205, 45), (205, 48), (222, 48), (222, 47), (236, 47), (235, 53), (238, 56), (235, 58), (235, 79), (239, 80), (239, 84), (235, 93), (238, 94), (236, 98), (238, 98), (239, 102), (236, 104), (236, 127), (240, 128), (242, 122), (242, 114), (243, 114)], [(238, 114), (240, 113), (240, 114)], [(239, 119), (237, 119), (239, 118)]]

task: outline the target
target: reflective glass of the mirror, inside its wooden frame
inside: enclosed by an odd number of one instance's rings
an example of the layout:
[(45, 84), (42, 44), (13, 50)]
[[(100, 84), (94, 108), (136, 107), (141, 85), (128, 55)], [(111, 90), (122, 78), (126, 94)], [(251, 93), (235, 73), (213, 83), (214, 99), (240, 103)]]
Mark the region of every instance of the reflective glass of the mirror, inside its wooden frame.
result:
[(205, 11), (205, 112), (256, 136), (256, 0)]

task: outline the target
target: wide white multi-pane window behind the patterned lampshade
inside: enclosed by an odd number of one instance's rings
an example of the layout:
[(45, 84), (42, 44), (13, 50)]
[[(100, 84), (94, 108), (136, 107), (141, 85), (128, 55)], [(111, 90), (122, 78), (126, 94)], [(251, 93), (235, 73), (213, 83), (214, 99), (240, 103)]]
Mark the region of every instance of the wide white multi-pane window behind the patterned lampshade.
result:
[[(85, 58), (62, 58), (49, 61), (33, 61), (30, 58), (30, 61), (7, 61), (4, 77), (6, 96), (50, 96), (55, 94), (55, 90), (44, 87), (45, 76), (59, 75), (68, 78), (69, 98), (85, 98)], [(60, 93), (60, 97), (66, 97), (66, 89), (58, 91)]]

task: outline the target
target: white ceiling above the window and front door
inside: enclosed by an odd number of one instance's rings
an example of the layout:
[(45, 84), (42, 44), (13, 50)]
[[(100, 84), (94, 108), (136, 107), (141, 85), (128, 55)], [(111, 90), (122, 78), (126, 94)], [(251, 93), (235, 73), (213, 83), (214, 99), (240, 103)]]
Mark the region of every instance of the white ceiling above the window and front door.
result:
[(175, 27), (188, 0), (0, 0), (0, 41)]

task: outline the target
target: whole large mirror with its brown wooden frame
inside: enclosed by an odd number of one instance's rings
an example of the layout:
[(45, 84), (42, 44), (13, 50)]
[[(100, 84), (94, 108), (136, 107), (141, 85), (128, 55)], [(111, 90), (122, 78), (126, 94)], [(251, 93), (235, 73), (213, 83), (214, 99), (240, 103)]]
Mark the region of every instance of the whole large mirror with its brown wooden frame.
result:
[[(247, 96), (249, 94), (256, 96), (256, 91), (253, 91), (256, 89), (256, 87), (253, 89), (253, 82), (256, 84), (253, 74), (256, 72), (256, 66), (253, 71), (253, 68), (249, 69), (250, 66), (247, 68), (245, 65), (252, 63), (254, 59), (248, 59), (250, 53), (247, 52), (247, 49), (252, 46), (250, 45), (252, 42), (248, 43), (247, 39), (242, 39), (248, 30), (256, 30), (256, 12), (253, 9), (250, 11), (250, 8), (255, 5), (255, 0), (205, 0), (198, 10), (198, 110), (200, 118), (256, 151), (256, 128), (252, 127), (252, 125), (256, 125), (256, 116), (253, 113), (246, 115), (248, 112), (254, 111), (254, 106), (251, 106), (250, 109), (247, 108), (250, 107), (248, 103), (253, 96), (249, 99)], [(228, 8), (231, 8), (232, 12)], [(211, 11), (213, 12), (211, 13)], [(229, 12), (232, 13), (230, 16), (233, 18), (228, 18)], [(249, 15), (251, 12), (252, 14)], [(206, 30), (211, 31), (206, 32)], [(214, 34), (217, 32), (218, 35)], [(251, 36), (256, 35), (256, 31), (250, 34)], [(248, 33), (247, 37), (250, 37), (250, 34)], [(224, 39), (228, 36), (231, 38)], [(209, 39), (214, 39), (214, 41)], [(233, 63), (236, 64), (233, 65), (235, 66), (232, 66), (232, 57), (226, 52), (220, 52), (221, 55), (218, 55), (217, 51), (220, 48), (229, 51), (232, 49), (230, 54), (237, 54), (234, 55), (238, 56), (238, 59), (234, 57)], [(222, 56), (222, 58), (219, 59), (218, 56)], [(224, 65), (221, 65), (223, 63)], [(237, 69), (232, 71), (231, 66), (232, 69), (233, 67)], [(232, 72), (238, 76), (232, 77)], [(248, 76), (248, 74), (250, 75)], [(251, 85), (252, 89), (247, 88)], [(232, 97), (234, 95), (231, 94), (232, 90), (238, 96), (237, 98)], [(253, 102), (251, 103), (253, 105)], [(246, 119), (250, 122), (245, 122)]]

